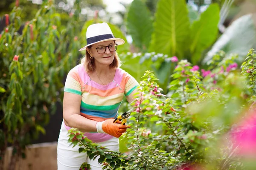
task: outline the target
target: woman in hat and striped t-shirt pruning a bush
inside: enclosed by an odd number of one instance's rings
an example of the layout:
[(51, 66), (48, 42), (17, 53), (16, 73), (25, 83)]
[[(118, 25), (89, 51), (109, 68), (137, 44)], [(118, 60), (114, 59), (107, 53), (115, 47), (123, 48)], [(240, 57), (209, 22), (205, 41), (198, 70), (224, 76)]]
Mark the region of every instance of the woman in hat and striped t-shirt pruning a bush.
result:
[(75, 127), (86, 132), (93, 142), (112, 151), (119, 150), (118, 138), (127, 125), (113, 123), (125, 95), (133, 101), (138, 82), (119, 68), (117, 45), (125, 41), (115, 38), (107, 23), (90, 25), (86, 32), (87, 45), (81, 64), (67, 75), (64, 99), (63, 122), (58, 139), (58, 170), (79, 170), (88, 162), (92, 170), (101, 170), (98, 159), (90, 160), (86, 153), (79, 153), (79, 146), (69, 146), (67, 130)]

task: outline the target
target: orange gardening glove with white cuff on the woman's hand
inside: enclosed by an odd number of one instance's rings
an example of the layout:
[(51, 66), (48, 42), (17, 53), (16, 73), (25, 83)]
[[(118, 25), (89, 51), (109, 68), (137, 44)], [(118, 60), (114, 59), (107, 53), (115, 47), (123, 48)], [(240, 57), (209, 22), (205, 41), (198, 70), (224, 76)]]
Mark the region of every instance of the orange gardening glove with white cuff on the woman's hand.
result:
[(103, 122), (97, 122), (96, 128), (98, 133), (107, 133), (111, 136), (119, 138), (125, 133), (126, 128), (131, 127), (128, 125), (120, 125), (120, 122), (113, 123), (114, 119), (108, 119)]

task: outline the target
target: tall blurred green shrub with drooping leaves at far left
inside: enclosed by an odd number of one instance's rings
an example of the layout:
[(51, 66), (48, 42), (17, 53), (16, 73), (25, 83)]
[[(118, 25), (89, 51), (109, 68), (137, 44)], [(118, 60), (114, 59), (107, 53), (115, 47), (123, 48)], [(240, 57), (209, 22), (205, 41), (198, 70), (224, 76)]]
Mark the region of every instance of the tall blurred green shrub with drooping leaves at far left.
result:
[(61, 31), (52, 1), (42, 4), (22, 34), (17, 32), (22, 9), (15, 7), (9, 14), (10, 23), (0, 34), (1, 156), (7, 144), (17, 150), (13, 156), (24, 155), (26, 145), (45, 133), (50, 113), (63, 98), (63, 77), (76, 65), (81, 46), (76, 37), (81, 9), (74, 5), (76, 11)]

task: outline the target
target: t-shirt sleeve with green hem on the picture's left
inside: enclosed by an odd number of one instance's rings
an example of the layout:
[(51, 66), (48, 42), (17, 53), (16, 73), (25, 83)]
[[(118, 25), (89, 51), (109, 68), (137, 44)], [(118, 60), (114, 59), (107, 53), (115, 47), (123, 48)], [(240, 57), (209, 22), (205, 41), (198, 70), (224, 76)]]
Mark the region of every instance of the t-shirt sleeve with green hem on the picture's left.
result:
[(75, 68), (71, 69), (67, 74), (67, 79), (64, 86), (64, 92), (78, 94), (81, 96), (81, 83), (78, 71)]

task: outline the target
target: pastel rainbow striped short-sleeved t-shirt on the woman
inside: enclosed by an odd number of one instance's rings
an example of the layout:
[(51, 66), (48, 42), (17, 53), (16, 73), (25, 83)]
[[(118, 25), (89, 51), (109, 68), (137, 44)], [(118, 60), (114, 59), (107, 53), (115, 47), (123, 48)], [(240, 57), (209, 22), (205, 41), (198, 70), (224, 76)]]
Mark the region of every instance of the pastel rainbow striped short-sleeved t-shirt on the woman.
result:
[[(118, 116), (118, 109), (123, 96), (128, 96), (138, 87), (139, 83), (130, 74), (116, 68), (112, 82), (108, 85), (100, 85), (90, 79), (83, 64), (79, 64), (67, 75), (64, 91), (82, 96), (81, 116), (87, 119), (101, 122)], [(66, 126), (69, 130), (70, 127)], [(85, 133), (93, 142), (104, 142), (113, 136), (106, 133)]]

